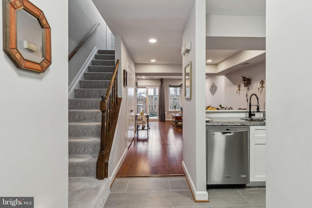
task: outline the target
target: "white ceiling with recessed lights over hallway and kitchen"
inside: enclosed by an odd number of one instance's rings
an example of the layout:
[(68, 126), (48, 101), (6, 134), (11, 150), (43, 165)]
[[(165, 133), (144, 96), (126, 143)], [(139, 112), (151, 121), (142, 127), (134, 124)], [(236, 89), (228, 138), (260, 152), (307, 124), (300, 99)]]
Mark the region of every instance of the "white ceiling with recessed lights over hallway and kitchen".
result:
[[(136, 64), (182, 63), (182, 33), (194, 0), (93, 2), (113, 34), (122, 37)], [(265, 0), (206, 0), (206, 14), (265, 16)], [(157, 42), (150, 43), (150, 38), (155, 38)], [(206, 49), (206, 60), (213, 59), (210, 63), (215, 64), (239, 51), (228, 50), (218, 45), (214, 48), (206, 46)], [(151, 59), (156, 59), (156, 62), (151, 62)]]

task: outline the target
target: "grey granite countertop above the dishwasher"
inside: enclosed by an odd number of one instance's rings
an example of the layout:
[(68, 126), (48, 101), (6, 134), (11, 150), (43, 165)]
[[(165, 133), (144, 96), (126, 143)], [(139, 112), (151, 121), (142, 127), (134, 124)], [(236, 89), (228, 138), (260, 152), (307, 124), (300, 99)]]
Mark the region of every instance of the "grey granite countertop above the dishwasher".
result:
[[(254, 117), (258, 118), (258, 117)], [(246, 121), (241, 118), (209, 118), (206, 121), (206, 126), (265, 126), (265, 121)]]

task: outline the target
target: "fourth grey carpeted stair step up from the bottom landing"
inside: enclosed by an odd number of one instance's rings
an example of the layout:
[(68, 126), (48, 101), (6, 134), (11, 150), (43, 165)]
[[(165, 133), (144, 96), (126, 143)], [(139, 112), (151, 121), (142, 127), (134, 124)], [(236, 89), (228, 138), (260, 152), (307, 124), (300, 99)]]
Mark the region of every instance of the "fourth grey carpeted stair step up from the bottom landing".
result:
[(100, 110), (68, 110), (69, 122), (101, 122)]

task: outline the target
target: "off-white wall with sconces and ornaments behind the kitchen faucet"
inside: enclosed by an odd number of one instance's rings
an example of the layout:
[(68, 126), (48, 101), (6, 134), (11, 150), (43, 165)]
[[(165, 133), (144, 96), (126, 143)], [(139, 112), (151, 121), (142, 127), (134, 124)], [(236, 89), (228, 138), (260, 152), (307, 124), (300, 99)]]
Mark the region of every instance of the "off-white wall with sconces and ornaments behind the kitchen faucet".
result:
[[(209, 76), (206, 78), (206, 106), (218, 107), (220, 104), (224, 107), (232, 107), (233, 110), (239, 108), (249, 109), (250, 95), (256, 94), (259, 97), (260, 110), (264, 109), (265, 93), (266, 93), (266, 77), (265, 77), (265, 62), (257, 65), (236, 71), (226, 76)], [(244, 87), (242, 82), (242, 76), (251, 78), (251, 85), (249, 91)], [(258, 84), (260, 80), (264, 80), (265, 87), (262, 92), (258, 91)], [(211, 95), (210, 86), (215, 83), (217, 91), (215, 95)], [(237, 85), (240, 84), (240, 93), (237, 94)], [(246, 93), (248, 95), (248, 102), (246, 99)], [(252, 104), (256, 104), (256, 98), (253, 96)], [(256, 107), (252, 106), (252, 110)]]

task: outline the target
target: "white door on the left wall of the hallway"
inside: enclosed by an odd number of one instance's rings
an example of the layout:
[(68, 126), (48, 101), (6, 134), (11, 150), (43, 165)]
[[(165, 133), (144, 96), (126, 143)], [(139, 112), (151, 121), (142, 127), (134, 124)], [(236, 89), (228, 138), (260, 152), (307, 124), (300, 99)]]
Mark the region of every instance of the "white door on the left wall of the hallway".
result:
[(127, 67), (127, 147), (135, 135), (135, 73)]

